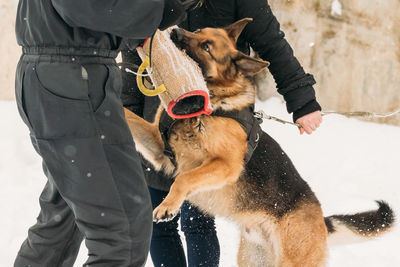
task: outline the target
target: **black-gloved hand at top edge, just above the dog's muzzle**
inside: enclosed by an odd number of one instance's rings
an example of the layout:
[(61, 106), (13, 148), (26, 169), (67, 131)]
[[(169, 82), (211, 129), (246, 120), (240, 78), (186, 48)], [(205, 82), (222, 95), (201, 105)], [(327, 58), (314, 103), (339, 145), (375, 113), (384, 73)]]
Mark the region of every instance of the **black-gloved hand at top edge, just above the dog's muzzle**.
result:
[(186, 19), (186, 11), (195, 5), (198, 0), (165, 0), (164, 13), (158, 28), (165, 30), (168, 27), (178, 25)]

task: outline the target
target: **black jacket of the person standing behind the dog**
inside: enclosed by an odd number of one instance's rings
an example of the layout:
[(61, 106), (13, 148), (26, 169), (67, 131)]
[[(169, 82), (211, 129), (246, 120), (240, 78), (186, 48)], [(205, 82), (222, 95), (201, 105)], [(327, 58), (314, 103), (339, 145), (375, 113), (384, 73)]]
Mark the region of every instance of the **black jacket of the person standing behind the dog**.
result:
[[(273, 75), (278, 92), (286, 101), (287, 110), (293, 112), (296, 121), (303, 115), (320, 110), (312, 87), (315, 80), (311, 74), (306, 74), (293, 50), (286, 41), (285, 34), (280, 30), (280, 24), (271, 12), (266, 0), (207, 0), (204, 4), (188, 13), (182, 28), (193, 31), (204, 27), (224, 27), (239, 19), (250, 17), (249, 23), (238, 39), (237, 47), (249, 53), (250, 46), (259, 56), (271, 63), (269, 70)], [(125, 61), (137, 62), (134, 52), (123, 51)], [(128, 108), (139, 115), (143, 114), (143, 101), (157, 103), (157, 100), (144, 100), (135, 87), (135, 77), (123, 73), (125, 89), (122, 99)], [(145, 105), (146, 108), (147, 104)], [(146, 119), (152, 119), (154, 107), (150, 113), (144, 112)], [(147, 116), (149, 115), (149, 116)]]

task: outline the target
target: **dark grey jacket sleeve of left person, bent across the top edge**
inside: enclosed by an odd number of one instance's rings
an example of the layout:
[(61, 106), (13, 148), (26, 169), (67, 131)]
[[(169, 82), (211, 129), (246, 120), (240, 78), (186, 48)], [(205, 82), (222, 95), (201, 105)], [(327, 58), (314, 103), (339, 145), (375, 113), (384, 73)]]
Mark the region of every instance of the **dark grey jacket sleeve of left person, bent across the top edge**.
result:
[(71, 27), (144, 39), (158, 28), (164, 0), (51, 0)]

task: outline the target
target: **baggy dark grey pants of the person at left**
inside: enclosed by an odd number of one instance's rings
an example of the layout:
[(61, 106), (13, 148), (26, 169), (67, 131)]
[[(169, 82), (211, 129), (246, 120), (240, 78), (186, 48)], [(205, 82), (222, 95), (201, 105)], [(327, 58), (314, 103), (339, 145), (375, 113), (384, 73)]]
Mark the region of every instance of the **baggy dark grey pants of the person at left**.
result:
[(48, 178), (14, 266), (144, 266), (151, 202), (119, 98), (114, 59), (24, 55), (16, 98)]

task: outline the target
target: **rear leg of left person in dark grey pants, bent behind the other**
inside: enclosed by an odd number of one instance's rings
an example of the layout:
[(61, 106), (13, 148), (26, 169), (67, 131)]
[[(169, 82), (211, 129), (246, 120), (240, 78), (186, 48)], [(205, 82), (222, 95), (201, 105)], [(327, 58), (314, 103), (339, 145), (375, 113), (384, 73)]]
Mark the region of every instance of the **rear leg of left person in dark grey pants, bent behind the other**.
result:
[(71, 209), (50, 181), (46, 183), (39, 202), (39, 217), (29, 229), (14, 266), (72, 267), (83, 235), (75, 224)]

